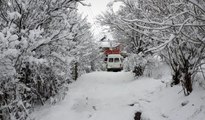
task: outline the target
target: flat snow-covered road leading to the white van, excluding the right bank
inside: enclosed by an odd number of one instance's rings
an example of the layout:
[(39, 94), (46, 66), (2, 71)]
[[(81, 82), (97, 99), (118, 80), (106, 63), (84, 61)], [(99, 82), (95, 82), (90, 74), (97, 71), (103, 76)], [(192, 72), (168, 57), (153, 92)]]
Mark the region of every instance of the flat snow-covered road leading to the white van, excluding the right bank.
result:
[[(139, 102), (162, 83), (129, 72), (94, 72), (70, 84), (66, 99), (38, 113), (37, 120), (133, 120)], [(130, 104), (135, 104), (130, 106)]]

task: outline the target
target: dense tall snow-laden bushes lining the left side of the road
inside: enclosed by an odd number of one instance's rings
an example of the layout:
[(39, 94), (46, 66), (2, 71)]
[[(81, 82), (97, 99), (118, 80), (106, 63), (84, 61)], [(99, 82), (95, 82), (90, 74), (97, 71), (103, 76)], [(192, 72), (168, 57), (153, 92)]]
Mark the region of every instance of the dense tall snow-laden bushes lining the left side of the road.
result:
[(0, 1), (0, 119), (25, 120), (36, 105), (65, 96), (70, 63), (92, 40), (76, 2)]

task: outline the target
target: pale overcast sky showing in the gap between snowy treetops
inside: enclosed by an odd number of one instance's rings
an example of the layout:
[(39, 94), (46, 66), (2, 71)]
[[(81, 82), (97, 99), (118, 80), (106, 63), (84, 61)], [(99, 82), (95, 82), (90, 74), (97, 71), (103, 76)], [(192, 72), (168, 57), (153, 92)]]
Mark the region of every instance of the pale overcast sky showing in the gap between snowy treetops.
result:
[[(108, 9), (107, 4), (111, 1), (113, 0), (85, 0), (85, 3), (91, 4), (91, 6), (88, 7), (79, 5), (78, 7), (79, 12), (83, 13), (84, 16), (87, 16), (88, 22), (90, 22), (92, 25), (92, 31), (97, 36), (99, 36), (99, 34), (102, 36), (105, 31), (103, 31), (101, 26), (99, 26), (99, 24), (96, 23), (96, 17)], [(119, 6), (116, 6), (114, 9), (118, 8)], [(106, 32), (105, 34), (108, 37), (110, 36)], [(112, 37), (110, 39), (112, 39)]]

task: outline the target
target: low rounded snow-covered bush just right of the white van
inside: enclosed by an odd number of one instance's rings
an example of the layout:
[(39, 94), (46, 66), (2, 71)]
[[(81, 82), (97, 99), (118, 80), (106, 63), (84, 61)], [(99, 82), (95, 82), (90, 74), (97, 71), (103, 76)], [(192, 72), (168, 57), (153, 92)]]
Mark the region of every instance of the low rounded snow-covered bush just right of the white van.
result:
[(142, 55), (130, 54), (124, 60), (124, 70), (133, 71), (136, 76), (147, 76), (153, 78), (161, 78), (163, 73), (164, 62), (159, 55)]

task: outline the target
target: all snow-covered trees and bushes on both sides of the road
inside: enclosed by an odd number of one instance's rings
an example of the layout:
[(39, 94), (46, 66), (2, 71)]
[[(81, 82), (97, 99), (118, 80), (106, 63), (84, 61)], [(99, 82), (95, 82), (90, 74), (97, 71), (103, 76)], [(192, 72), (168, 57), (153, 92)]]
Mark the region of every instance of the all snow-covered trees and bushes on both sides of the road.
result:
[[(0, 0), (0, 120), (26, 120), (63, 100), (79, 76), (102, 71), (86, 0)], [(120, 2), (118, 11), (113, 5)], [(185, 96), (205, 88), (204, 0), (114, 0), (97, 17), (128, 54), (124, 70), (147, 75), (160, 57)], [(146, 71), (146, 70), (147, 71)]]

